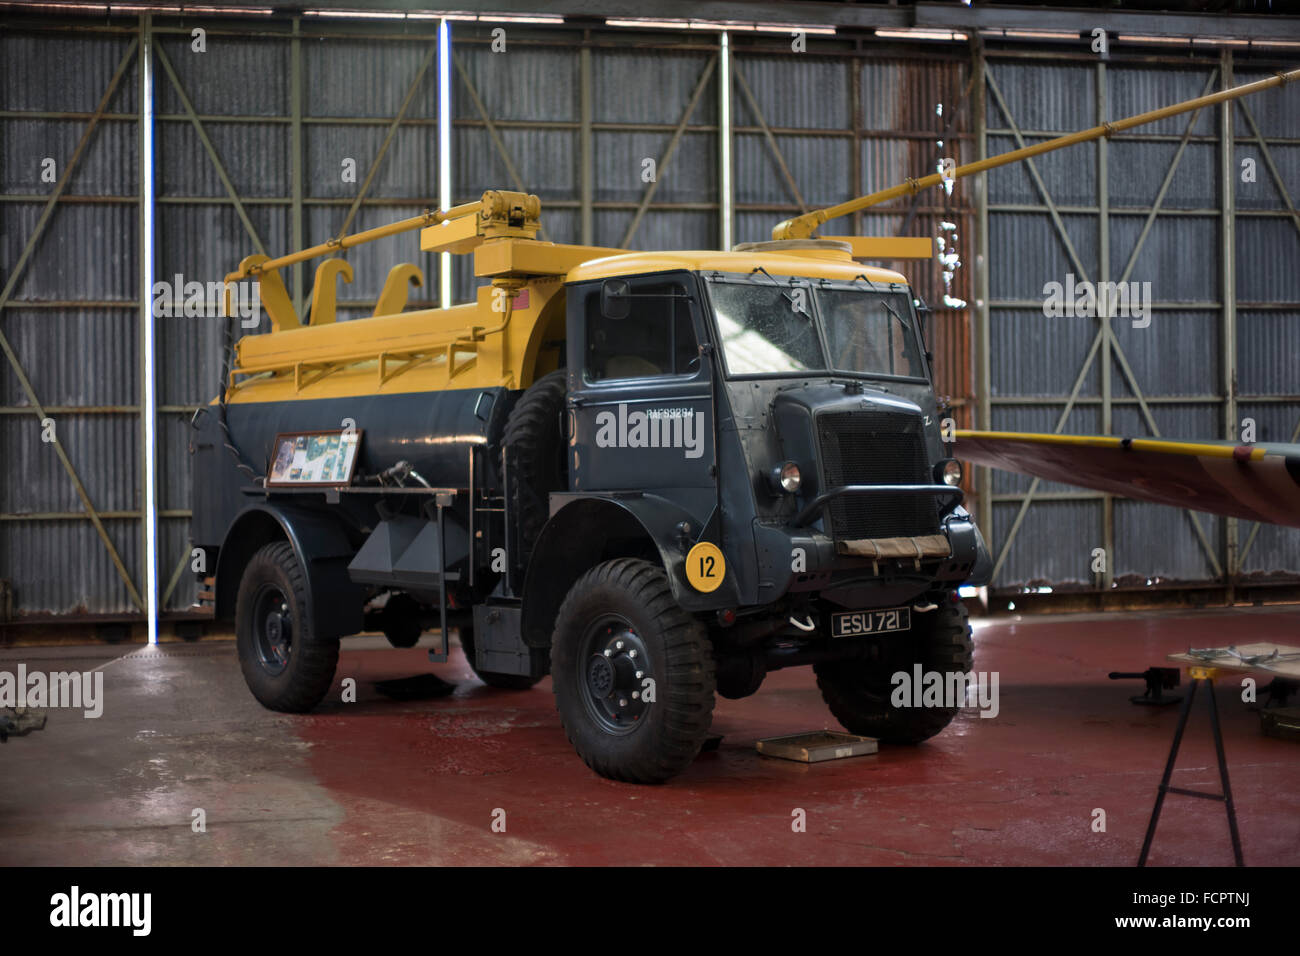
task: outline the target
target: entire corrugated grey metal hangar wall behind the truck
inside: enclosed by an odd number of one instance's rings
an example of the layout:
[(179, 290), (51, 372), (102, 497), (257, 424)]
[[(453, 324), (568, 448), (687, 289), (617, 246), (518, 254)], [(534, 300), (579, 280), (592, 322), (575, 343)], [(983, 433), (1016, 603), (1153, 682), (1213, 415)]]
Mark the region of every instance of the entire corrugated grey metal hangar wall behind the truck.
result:
[[(55, 157), (62, 172), (140, 30), (129, 20), (79, 25), (87, 29), (0, 35), (5, 277), (53, 190), (40, 182), (38, 157)], [(295, 25), (281, 17), (203, 25), (207, 49), (200, 53), (192, 48), (192, 23), (153, 22), (159, 280), (182, 274), (214, 281), (259, 248), (277, 255), (344, 226), (356, 232), (437, 204), (436, 22), (412, 21), (399, 30), (373, 22)], [(494, 52), (491, 30), (485, 23), (454, 25), (455, 202), (476, 199), (489, 187), (526, 189), (542, 196), (546, 238), (552, 241), (716, 247), (723, 82), (716, 35), (511, 26), (507, 51)], [(963, 49), (930, 47), (901, 55), (884, 44), (809, 38), (807, 53), (792, 55), (781, 36), (733, 34), (732, 53), (736, 242), (767, 238), (776, 221), (803, 209), (928, 173), (942, 156), (958, 163), (976, 156), (975, 104), (982, 92)], [(1032, 142), (1091, 125), (1101, 100), (1115, 117), (1196, 95), (1217, 65), (1112, 65), (1098, 73), (1095, 64), (994, 57), (989, 73), (1006, 109), (984, 94), (987, 148), (1015, 146), (1013, 122)], [(1236, 79), (1252, 75), (1239, 68)], [(1270, 159), (1292, 193), (1300, 179), (1300, 134), (1295, 100), (1287, 98), (1296, 95), (1266, 94), (1251, 101), (1270, 140)], [(139, 79), (130, 62), (68, 195), (53, 208), (10, 300), (0, 307), (0, 332), (39, 401), (52, 410), (61, 444), (117, 554), (114, 561), (86, 519), (52, 446), (40, 442), (14, 368), (0, 364), (0, 579), (12, 581), (22, 614), (133, 613), (130, 589), (144, 588), (139, 108)], [(1236, 151), (1244, 156), (1253, 148), (1247, 143), (1253, 131), (1244, 116), (1235, 122)], [(1145, 137), (1039, 161), (1078, 261), (1066, 252), (1024, 166), (989, 177), (993, 427), (1058, 425), (1096, 323), (1045, 320), (1043, 284), (1080, 267), (1096, 277), (1105, 247), (1110, 277), (1123, 272), (1145, 221), (1141, 209), (1160, 189), (1183, 129), (1169, 121)], [(584, 142), (592, 155), (586, 170)], [(1134, 267), (1132, 278), (1153, 284), (1157, 319), (1145, 330), (1117, 328), (1118, 347), (1166, 436), (1225, 431), (1218, 143), (1217, 114), (1202, 116)], [(1102, 148), (1109, 150), (1105, 196)], [(1296, 230), (1278, 215), (1284, 202), (1262, 153), (1256, 148), (1252, 155), (1260, 160), (1257, 182), (1235, 185), (1238, 411), (1257, 420), (1261, 440), (1286, 440), (1300, 415)], [(647, 159), (658, 165), (653, 196), (642, 178)], [(343, 174), (346, 163), (355, 168), (351, 178)], [(590, 204), (584, 208), (586, 195)], [(833, 229), (935, 235), (942, 220), (956, 224), (945, 235), (956, 241), (963, 267), (950, 290), (935, 263), (893, 265), (907, 272), (936, 308), (932, 343), (940, 392), (952, 399), (962, 425), (974, 424), (978, 402), (971, 338), (975, 195), (972, 186), (961, 183), (950, 200), (932, 191), (915, 204), (900, 202)], [(1105, 242), (1102, 219), (1109, 222)], [(437, 300), (437, 258), (420, 252), (413, 237), (381, 241), (346, 258), (355, 282), (339, 290), (341, 317), (367, 315), (387, 269), (399, 261), (413, 261), (425, 273), (425, 287), (412, 295), (412, 304)], [(313, 267), (286, 271), (300, 308)], [(455, 258), (455, 299), (468, 299), (474, 285), (471, 260)], [(944, 308), (945, 291), (972, 307)], [(242, 334), (238, 323), (229, 325), (231, 336)], [(187, 421), (217, 389), (226, 333), (220, 319), (156, 323), (159, 578), (164, 606), (173, 611), (194, 598), (186, 561)], [(1108, 407), (1113, 431), (1148, 431), (1126, 373), (1112, 362), (1109, 402), (1095, 360), (1065, 431), (1102, 431)], [(1013, 476), (996, 479), (994, 548), (1008, 540), (1027, 486)], [(1088, 553), (1075, 554), (1060, 542), (1100, 546), (1106, 507), (1096, 496), (1040, 488), (998, 584), (1092, 585)], [(1212, 558), (1187, 516), (1127, 502), (1113, 509), (1117, 578), (1199, 581), (1227, 566), (1227, 523), (1200, 519)], [(1300, 536), (1249, 527), (1235, 528), (1235, 535), (1243, 570), (1300, 570)]]

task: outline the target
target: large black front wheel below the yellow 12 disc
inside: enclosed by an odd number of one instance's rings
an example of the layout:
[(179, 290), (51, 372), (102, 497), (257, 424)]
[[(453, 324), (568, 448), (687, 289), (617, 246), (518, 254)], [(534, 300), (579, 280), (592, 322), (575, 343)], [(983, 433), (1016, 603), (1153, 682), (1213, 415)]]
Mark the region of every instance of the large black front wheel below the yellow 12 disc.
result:
[(614, 780), (662, 783), (685, 770), (708, 736), (708, 635), (647, 561), (607, 561), (572, 587), (555, 620), (551, 684), (573, 749)]

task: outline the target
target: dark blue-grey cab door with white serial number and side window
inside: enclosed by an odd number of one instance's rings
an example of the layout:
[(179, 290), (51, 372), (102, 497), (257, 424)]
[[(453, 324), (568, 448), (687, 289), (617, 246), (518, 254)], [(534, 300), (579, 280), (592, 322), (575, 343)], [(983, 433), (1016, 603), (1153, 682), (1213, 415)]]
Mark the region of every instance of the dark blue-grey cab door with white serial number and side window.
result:
[(714, 381), (696, 278), (624, 277), (628, 315), (601, 282), (568, 293), (569, 488), (655, 492), (693, 514), (716, 502)]

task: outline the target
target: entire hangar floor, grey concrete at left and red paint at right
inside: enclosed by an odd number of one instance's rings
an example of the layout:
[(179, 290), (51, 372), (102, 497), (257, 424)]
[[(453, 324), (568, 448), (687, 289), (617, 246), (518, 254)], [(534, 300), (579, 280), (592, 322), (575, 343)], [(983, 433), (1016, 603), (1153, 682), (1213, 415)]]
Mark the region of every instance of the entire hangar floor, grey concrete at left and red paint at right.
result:
[[(719, 700), (716, 753), (663, 787), (612, 783), (569, 749), (550, 682), (478, 683), (433, 666), (451, 697), (395, 702), (374, 680), (426, 672), (424, 645), (344, 641), (316, 713), (263, 710), (229, 641), (9, 648), (0, 670), (103, 667), (99, 719), (51, 711), (0, 748), (3, 864), (1132, 865), (1176, 708), (1128, 702), (1110, 670), (1188, 645), (1296, 643), (1300, 611), (1079, 615), (978, 623), (975, 666), (998, 671), (1001, 713), (962, 715), (918, 748), (802, 765), (758, 737), (835, 727), (807, 669)], [(356, 704), (338, 702), (355, 678)], [(1265, 737), (1235, 684), (1219, 706), (1248, 865), (1300, 851), (1300, 744)], [(1295, 702), (1295, 701), (1292, 701)], [(1175, 786), (1217, 790), (1197, 700)], [(191, 829), (202, 808), (207, 832)], [(807, 814), (792, 832), (792, 812)], [(1093, 810), (1106, 832), (1093, 832)], [(506, 832), (494, 832), (495, 810)], [(499, 817), (499, 814), (497, 814)], [(1170, 797), (1153, 865), (1232, 861), (1221, 805)]]

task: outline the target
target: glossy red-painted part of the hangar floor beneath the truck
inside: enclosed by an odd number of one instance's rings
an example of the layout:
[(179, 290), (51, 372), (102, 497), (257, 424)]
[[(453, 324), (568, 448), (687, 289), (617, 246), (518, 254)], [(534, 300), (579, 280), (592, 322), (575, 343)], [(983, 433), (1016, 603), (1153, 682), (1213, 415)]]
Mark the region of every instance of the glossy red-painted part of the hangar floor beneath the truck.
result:
[[(1056, 617), (976, 624), (975, 666), (1000, 674), (1001, 711), (965, 711), (918, 748), (820, 765), (760, 757), (758, 737), (835, 727), (809, 670), (719, 700), (718, 753), (663, 787), (603, 780), (572, 753), (550, 682), (526, 692), (465, 680), (447, 700), (363, 698), (303, 719), (309, 766), (343, 810), (333, 840), (367, 864), (1131, 865), (1178, 708), (1139, 708), (1144, 670), (1188, 645), (1295, 641), (1300, 614)], [(421, 652), (344, 654), (339, 676), (420, 672)], [(1199, 695), (1175, 786), (1217, 790)], [(1294, 865), (1300, 744), (1265, 737), (1222, 684), (1219, 708), (1248, 864)], [(1095, 810), (1105, 832), (1093, 831)], [(806, 832), (793, 832), (793, 813)], [(504, 810), (506, 834), (493, 832)], [(499, 813), (498, 813), (499, 817)], [(1231, 864), (1223, 808), (1170, 797), (1152, 865)]]

